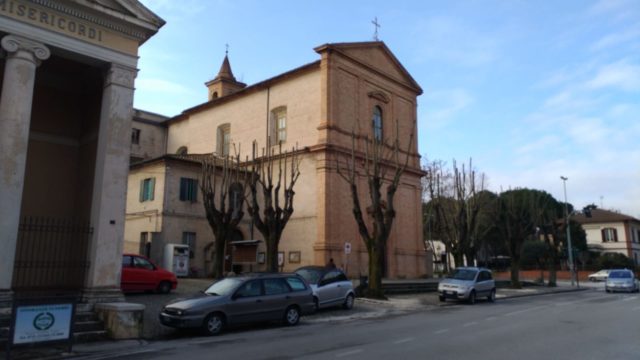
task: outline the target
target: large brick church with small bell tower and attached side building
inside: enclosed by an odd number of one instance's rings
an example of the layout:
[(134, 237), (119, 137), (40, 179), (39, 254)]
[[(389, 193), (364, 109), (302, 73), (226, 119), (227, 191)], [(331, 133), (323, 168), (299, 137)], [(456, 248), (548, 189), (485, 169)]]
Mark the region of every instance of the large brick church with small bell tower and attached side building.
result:
[[(281, 144), (300, 154), (295, 210), (279, 247), (281, 269), (323, 265), (333, 258), (349, 276), (365, 275), (367, 251), (352, 215), (349, 187), (336, 171), (336, 160), (351, 154), (355, 134), (397, 138), (401, 160), (409, 157), (395, 196), (386, 276), (431, 274), (431, 255), (422, 239), (423, 173), (415, 141), (422, 89), (383, 42), (325, 44), (314, 50), (318, 61), (250, 86), (236, 81), (225, 57), (216, 78), (206, 83), (207, 102), (138, 133), (139, 142), (162, 141), (165, 148), (163, 153), (141, 151), (143, 160), (131, 165), (126, 251), (146, 252), (162, 263), (167, 244), (189, 244), (191, 268), (206, 275), (215, 239), (196, 185), (199, 156), (239, 152), (245, 159), (255, 141), (258, 149)], [(158, 136), (162, 140), (145, 140)], [(195, 192), (188, 190), (194, 186)], [(366, 208), (364, 177), (359, 191)], [(238, 230), (228, 249), (231, 269), (264, 269), (264, 243), (248, 215)]]

